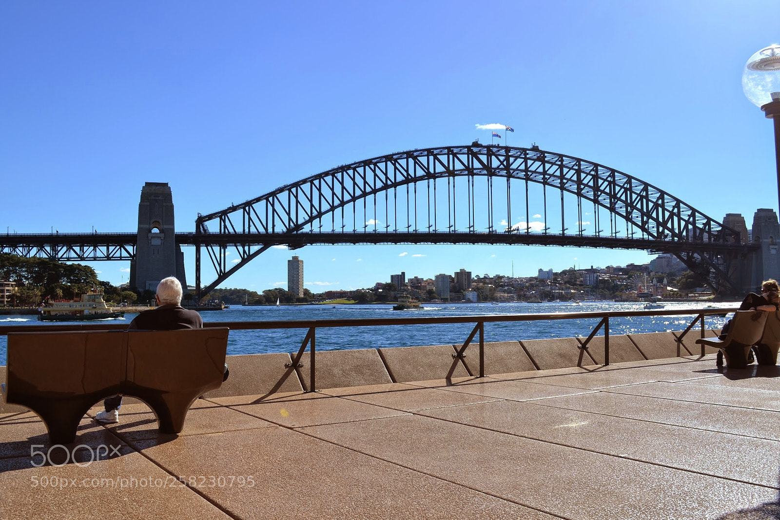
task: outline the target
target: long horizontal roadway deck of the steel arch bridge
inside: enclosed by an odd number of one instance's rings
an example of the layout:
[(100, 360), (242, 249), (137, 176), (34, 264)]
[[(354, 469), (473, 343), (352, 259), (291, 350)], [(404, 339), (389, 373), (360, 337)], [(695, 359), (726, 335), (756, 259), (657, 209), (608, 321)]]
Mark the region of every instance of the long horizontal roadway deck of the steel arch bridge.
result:
[[(132, 260), (137, 233), (10, 233), (0, 235), (0, 253), (24, 257), (41, 256), (58, 261)], [(697, 251), (741, 251), (758, 244), (700, 244), (644, 238), (604, 237), (555, 233), (468, 233), (468, 232), (369, 232), (369, 233), (176, 233), (182, 246), (271, 246), (285, 244), (303, 248), (313, 244), (518, 244), (557, 245), (580, 248), (634, 249), (675, 253)]]

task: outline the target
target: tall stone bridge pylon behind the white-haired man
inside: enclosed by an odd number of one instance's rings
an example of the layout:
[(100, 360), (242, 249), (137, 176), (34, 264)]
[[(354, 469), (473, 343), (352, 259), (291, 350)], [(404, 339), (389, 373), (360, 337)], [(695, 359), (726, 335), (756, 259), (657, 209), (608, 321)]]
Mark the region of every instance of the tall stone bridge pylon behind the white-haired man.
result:
[(168, 276), (176, 276), (186, 291), (184, 254), (176, 244), (173, 195), (168, 183), (145, 183), (138, 204), (138, 242), (136, 258), (130, 262), (130, 287), (154, 291)]

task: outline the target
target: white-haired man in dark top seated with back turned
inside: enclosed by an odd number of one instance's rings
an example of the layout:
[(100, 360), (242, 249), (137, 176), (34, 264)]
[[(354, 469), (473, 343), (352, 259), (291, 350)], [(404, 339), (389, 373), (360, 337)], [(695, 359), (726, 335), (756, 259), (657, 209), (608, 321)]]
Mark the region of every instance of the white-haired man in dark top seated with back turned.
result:
[[(195, 311), (183, 308), (182, 284), (174, 276), (168, 276), (158, 283), (157, 308), (141, 312), (130, 322), (128, 330), (179, 330), (202, 329), (203, 319)], [(225, 365), (225, 371), (227, 365)], [(225, 374), (227, 376), (227, 374)], [(119, 407), (122, 406), (122, 396), (108, 397), (103, 401), (105, 411), (95, 415), (95, 420), (103, 424), (119, 422)]]

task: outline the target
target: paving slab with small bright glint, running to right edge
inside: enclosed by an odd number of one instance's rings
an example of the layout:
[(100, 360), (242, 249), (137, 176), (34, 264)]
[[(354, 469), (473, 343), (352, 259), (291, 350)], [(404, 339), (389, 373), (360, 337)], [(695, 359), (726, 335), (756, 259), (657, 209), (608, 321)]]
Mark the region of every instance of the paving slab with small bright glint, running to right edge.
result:
[[(648, 435), (644, 421), (550, 408), (544, 403), (495, 401), (420, 414), (740, 482), (780, 486), (780, 442), (776, 440), (661, 424), (654, 425)], [(714, 446), (729, 449), (713, 451)]]

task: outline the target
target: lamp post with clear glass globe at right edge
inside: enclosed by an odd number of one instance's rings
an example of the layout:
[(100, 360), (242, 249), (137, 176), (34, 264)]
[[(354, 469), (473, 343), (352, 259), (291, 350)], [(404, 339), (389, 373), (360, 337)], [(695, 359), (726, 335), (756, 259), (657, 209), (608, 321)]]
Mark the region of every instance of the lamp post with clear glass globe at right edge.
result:
[(742, 89), (750, 102), (760, 107), (767, 118), (775, 122), (775, 162), (780, 204), (780, 45), (770, 45), (750, 56), (742, 73)]

